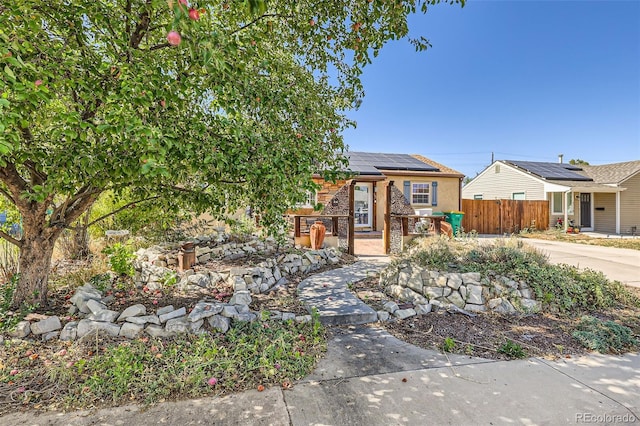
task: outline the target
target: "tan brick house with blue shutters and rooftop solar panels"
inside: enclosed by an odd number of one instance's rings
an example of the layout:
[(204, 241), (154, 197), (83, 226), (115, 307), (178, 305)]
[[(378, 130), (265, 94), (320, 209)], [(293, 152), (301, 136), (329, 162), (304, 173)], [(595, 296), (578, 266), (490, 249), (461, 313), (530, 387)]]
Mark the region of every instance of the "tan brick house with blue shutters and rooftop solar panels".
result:
[[(393, 181), (414, 210), (451, 211), (460, 209), (464, 174), (421, 155), (347, 152), (349, 170), (356, 181), (354, 193), (356, 231), (381, 231), (384, 225), (386, 185)], [(297, 213), (309, 214), (316, 203), (326, 205), (346, 183), (326, 182), (314, 177), (322, 188), (309, 194)]]

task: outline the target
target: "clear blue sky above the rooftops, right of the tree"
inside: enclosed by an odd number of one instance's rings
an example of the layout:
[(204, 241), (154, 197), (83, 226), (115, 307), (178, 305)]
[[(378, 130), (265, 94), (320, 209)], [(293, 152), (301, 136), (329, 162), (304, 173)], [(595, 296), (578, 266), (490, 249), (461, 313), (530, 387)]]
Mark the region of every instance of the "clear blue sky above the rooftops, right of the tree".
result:
[(474, 177), (495, 159), (640, 159), (640, 1), (437, 5), (365, 68), (352, 151), (422, 154)]

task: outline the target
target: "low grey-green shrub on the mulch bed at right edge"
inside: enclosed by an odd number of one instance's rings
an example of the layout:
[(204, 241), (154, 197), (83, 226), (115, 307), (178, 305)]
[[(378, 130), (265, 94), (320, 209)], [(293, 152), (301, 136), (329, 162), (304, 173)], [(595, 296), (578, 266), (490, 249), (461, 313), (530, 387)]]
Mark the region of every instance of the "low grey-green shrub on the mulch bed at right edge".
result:
[(585, 348), (600, 353), (623, 353), (638, 349), (631, 329), (613, 321), (585, 315), (573, 332), (573, 338)]

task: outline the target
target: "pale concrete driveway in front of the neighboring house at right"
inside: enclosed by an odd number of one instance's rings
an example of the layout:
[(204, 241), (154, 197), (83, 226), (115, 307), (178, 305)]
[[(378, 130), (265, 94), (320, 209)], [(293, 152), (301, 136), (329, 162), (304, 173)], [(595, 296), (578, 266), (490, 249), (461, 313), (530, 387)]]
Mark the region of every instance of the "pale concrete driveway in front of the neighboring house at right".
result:
[(552, 263), (601, 271), (609, 279), (640, 287), (640, 251), (561, 241), (523, 239), (549, 256)]

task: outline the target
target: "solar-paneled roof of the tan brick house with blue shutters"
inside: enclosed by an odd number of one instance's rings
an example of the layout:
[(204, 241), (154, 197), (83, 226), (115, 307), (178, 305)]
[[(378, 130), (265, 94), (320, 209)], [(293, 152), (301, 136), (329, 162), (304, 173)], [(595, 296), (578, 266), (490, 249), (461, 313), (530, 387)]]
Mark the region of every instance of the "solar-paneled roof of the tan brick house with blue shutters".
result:
[(411, 172), (428, 174), (463, 174), (421, 155), (388, 154), (349, 151), (349, 170), (358, 175), (384, 176), (384, 172)]

